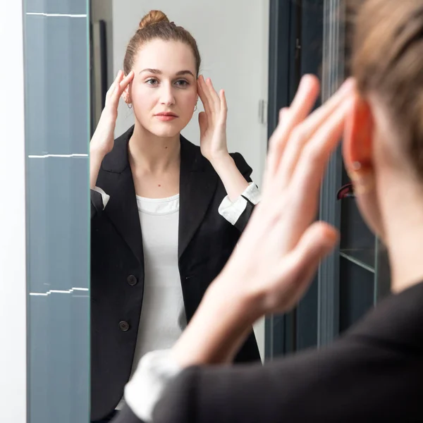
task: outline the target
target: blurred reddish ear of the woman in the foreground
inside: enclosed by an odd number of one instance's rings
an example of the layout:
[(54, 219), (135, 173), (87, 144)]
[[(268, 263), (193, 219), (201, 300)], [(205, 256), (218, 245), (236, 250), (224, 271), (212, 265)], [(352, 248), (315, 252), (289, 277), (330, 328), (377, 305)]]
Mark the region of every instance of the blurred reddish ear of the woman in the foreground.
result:
[[(343, 137), (343, 159), (349, 173), (373, 171), (374, 120), (369, 103), (355, 94), (353, 107), (345, 124)], [(360, 164), (360, 168), (357, 168)]]

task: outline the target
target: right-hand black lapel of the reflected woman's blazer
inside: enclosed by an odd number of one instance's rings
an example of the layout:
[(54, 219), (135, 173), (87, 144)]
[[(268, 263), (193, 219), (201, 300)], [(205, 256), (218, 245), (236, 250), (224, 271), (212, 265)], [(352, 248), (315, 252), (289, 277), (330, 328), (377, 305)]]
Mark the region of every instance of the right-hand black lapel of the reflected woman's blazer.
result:
[(218, 176), (200, 149), (180, 136), (180, 201), (178, 258), (204, 220)]

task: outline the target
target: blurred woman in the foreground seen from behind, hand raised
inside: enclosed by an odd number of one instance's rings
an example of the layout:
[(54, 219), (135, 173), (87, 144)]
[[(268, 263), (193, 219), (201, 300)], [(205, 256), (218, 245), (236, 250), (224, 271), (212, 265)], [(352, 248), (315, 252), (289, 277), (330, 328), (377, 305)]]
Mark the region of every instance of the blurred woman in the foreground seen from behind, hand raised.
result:
[[(318, 90), (305, 77), (282, 111), (237, 250), (174, 348), (143, 357), (116, 423), (423, 421), (423, 0), (362, 1), (353, 79), (307, 117)], [(231, 362), (257, 318), (293, 307), (332, 250), (336, 230), (314, 216), (342, 133), (358, 206), (388, 248), (391, 297), (327, 348), (207, 366)]]

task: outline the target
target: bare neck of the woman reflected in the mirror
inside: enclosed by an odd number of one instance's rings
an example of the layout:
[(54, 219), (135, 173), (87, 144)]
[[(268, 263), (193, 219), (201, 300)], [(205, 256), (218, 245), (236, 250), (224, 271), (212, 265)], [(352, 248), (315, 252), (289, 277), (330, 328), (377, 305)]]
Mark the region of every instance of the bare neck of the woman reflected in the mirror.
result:
[(161, 173), (178, 166), (180, 161), (180, 135), (157, 137), (138, 123), (128, 145), (129, 161), (140, 171)]

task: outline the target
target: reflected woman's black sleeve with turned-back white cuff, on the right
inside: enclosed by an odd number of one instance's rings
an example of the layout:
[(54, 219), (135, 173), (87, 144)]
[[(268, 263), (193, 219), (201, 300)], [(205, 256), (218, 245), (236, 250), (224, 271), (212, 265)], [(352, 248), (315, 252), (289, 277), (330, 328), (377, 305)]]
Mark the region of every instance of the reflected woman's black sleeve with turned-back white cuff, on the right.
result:
[(252, 168), (247, 164), (244, 157), (240, 153), (233, 153), (231, 157), (235, 161), (235, 165), (240, 173), (250, 185), (235, 202), (231, 202), (228, 196), (226, 196), (219, 207), (219, 214), (240, 232), (243, 232), (250, 220), (255, 205), (259, 202), (260, 193), (257, 185), (251, 180)]

